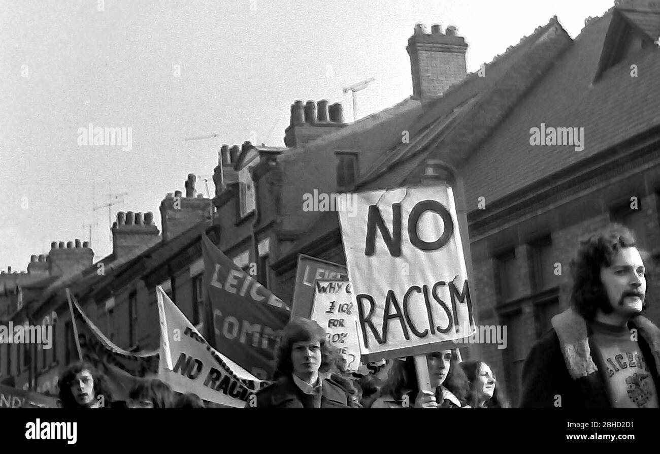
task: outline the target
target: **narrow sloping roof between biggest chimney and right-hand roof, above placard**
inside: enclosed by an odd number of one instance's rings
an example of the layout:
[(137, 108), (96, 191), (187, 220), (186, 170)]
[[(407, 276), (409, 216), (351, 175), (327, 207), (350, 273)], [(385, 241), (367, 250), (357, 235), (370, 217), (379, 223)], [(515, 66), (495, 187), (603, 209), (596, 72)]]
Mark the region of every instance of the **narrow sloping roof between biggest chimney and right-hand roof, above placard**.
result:
[[(393, 146), (362, 174), (354, 191), (401, 185), (418, 164), (439, 149), (463, 157), (491, 133), (515, 102), (570, 44), (556, 17), (485, 66), (486, 77), (471, 73), (424, 107), (409, 127), (409, 143)], [(514, 77), (515, 76), (515, 77)], [(289, 256), (325, 235), (339, 235), (336, 212), (324, 212), (294, 243)]]

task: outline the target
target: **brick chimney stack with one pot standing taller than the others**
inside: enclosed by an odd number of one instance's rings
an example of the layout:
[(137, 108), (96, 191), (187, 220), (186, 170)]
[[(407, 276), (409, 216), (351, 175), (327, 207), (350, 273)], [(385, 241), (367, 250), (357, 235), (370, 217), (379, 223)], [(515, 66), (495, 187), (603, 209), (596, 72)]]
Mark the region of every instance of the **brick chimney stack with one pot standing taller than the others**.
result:
[[(230, 154), (232, 153), (230, 152)], [(236, 158), (233, 158), (232, 162), (234, 159)], [(202, 194), (195, 197), (196, 192), (195, 176), (189, 174), (187, 181), (185, 181), (185, 197), (182, 196), (181, 191), (175, 191), (174, 196), (172, 193), (168, 193), (160, 203), (163, 241), (172, 240), (172, 238), (179, 236), (195, 224), (205, 219), (211, 219), (211, 199), (203, 197)]]

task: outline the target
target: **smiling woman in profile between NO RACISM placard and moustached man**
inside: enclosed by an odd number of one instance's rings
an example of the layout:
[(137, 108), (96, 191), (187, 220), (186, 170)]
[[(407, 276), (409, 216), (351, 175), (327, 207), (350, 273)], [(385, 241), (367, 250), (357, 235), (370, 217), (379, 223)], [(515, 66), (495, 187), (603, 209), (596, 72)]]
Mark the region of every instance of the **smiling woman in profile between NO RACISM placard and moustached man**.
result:
[(466, 400), (472, 408), (511, 408), (488, 364), (471, 360), (462, 362), (461, 368), (468, 379)]

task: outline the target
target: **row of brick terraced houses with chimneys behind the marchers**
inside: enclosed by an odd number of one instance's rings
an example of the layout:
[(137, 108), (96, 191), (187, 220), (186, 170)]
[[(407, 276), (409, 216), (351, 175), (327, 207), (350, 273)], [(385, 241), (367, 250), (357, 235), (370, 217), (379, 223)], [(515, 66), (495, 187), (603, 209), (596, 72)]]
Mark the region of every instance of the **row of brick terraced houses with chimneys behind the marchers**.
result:
[[(457, 197), (477, 324), (508, 326), (507, 348), (483, 344), (478, 353), (515, 403), (531, 344), (568, 305), (568, 263), (583, 233), (611, 220), (630, 226), (651, 253), (651, 303), (659, 294), (658, 36), (660, 9), (618, 2), (576, 38), (550, 18), (466, 74), (469, 47), (455, 27), (416, 26), (407, 43), (413, 94), (395, 106), (345, 123), (341, 104), (296, 101), (286, 146), (223, 146), (215, 197), (197, 197), (189, 177), (185, 197), (160, 205), (162, 232), (149, 213), (120, 213), (113, 253), (99, 263), (82, 245), (53, 243), (28, 273), (0, 276), (5, 321), (57, 313), (51, 351), (1, 346), (0, 379), (52, 390), (73, 358), (67, 286), (119, 346), (155, 348), (156, 285), (203, 324), (201, 234), (288, 302), (298, 254), (346, 263), (337, 212), (303, 209), (306, 194), (446, 184)], [(583, 148), (549, 137), (538, 145), (530, 138), (541, 125), (583, 128)], [(651, 304), (648, 316), (658, 323), (660, 308)]]

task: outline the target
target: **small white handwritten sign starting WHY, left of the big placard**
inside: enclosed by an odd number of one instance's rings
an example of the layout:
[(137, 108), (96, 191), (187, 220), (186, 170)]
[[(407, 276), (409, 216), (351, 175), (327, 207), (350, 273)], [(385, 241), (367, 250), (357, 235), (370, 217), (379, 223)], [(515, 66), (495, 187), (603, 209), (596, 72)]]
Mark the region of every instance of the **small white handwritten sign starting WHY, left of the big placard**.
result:
[(317, 279), (315, 283), (312, 320), (327, 333), (327, 340), (341, 351), (347, 370), (360, 366), (360, 344), (357, 311), (351, 297), (350, 282)]

